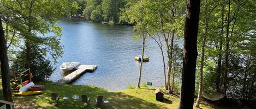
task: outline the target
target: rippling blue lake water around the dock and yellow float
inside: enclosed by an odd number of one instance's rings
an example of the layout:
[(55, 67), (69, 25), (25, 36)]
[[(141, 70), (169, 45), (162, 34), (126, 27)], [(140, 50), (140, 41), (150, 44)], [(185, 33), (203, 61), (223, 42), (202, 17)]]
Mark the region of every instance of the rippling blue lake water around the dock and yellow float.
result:
[[(56, 70), (49, 78), (62, 78), (59, 66), (62, 62), (80, 62), (82, 65), (97, 65), (93, 73), (85, 73), (73, 82), (74, 85), (93, 85), (109, 91), (127, 89), (136, 85), (140, 63), (134, 56), (141, 54), (141, 40), (134, 40), (133, 28), (123, 25), (88, 23), (85, 21), (61, 21), (61, 44), (63, 57), (58, 59)], [(163, 86), (163, 63), (160, 49), (150, 38), (146, 41), (145, 54), (150, 61), (142, 69), (142, 82)]]

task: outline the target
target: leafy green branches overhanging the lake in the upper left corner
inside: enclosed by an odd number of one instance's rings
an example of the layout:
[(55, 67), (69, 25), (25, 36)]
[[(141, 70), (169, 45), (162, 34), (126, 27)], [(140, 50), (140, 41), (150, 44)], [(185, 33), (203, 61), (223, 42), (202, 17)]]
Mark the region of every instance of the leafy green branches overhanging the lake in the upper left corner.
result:
[[(8, 25), (6, 31), (14, 35), (14, 40), (19, 39), (19, 42), (15, 41), (14, 48), (24, 48), (21, 43), (33, 43), (57, 62), (57, 58), (62, 56), (63, 46), (59, 44), (61, 28), (55, 23), (66, 14), (68, 3), (67, 0), (1, 1), (0, 17), (4, 18), (3, 24)], [(49, 33), (52, 34), (45, 35)]]

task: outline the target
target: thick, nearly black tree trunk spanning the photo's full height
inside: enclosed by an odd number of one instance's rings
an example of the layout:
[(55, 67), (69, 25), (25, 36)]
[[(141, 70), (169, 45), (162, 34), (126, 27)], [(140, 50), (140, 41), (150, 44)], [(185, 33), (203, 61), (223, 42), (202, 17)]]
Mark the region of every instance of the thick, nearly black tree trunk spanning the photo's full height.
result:
[(199, 13), (200, 0), (187, 0), (181, 96), (178, 109), (192, 109), (194, 104)]

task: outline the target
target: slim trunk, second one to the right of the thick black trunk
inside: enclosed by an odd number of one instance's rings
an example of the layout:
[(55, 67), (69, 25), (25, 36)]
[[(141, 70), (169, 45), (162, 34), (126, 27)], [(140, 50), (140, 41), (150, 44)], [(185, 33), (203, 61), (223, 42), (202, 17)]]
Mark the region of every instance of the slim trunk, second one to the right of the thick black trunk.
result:
[(215, 77), (215, 84), (217, 92), (221, 92), (221, 74), (222, 74), (222, 44), (223, 44), (223, 29), (224, 29), (224, 7), (225, 3), (223, 1), (222, 4), (222, 27), (221, 27), (221, 40), (219, 42), (219, 50), (218, 50), (218, 65)]

